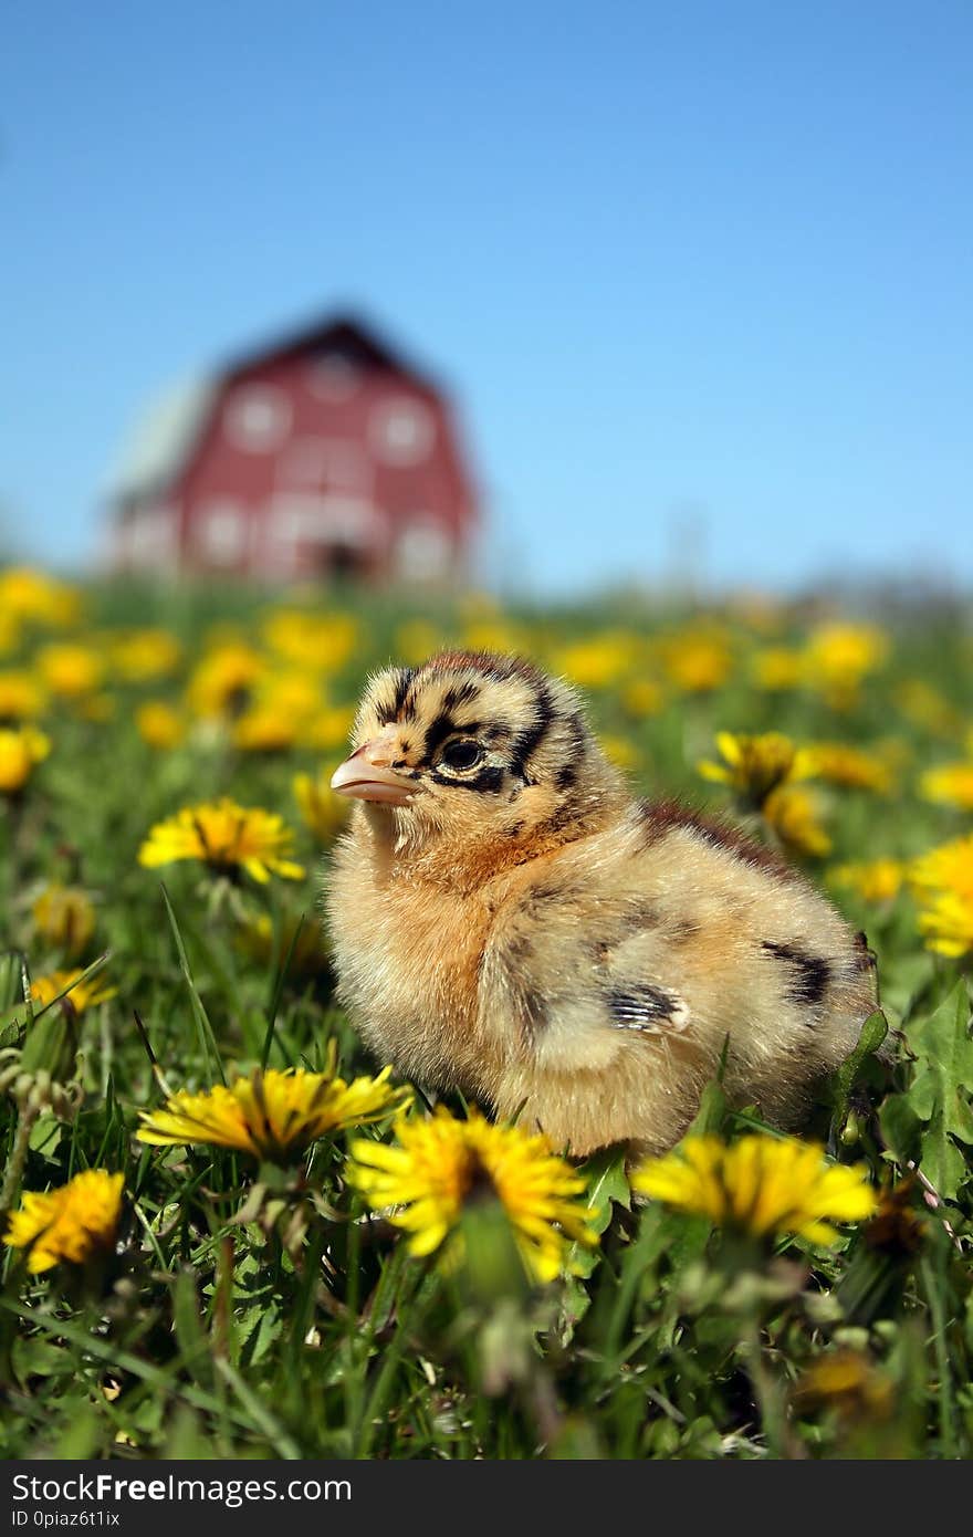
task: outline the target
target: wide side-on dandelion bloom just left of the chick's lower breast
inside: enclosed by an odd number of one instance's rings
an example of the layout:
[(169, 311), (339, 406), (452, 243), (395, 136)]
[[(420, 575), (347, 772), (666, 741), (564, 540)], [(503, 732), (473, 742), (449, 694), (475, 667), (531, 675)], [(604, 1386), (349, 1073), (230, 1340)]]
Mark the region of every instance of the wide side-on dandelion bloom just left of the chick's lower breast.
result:
[(387, 1079), (357, 1077), (350, 1084), (335, 1073), (334, 1042), (324, 1073), (275, 1068), (238, 1077), (231, 1088), (217, 1084), (200, 1094), (180, 1090), (163, 1110), (143, 1111), (138, 1140), (155, 1147), (235, 1148), (260, 1160), (294, 1164), (318, 1137), (367, 1127), (403, 1110), (409, 1088), (394, 1088)]

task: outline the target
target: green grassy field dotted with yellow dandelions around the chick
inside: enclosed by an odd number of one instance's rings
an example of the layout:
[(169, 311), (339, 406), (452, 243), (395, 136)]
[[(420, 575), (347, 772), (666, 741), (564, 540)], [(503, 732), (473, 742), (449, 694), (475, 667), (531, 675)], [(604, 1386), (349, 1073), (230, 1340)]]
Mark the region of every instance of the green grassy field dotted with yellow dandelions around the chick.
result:
[[(538, 1274), (500, 1185), (426, 1254), (369, 1202), (387, 1085), (366, 1113), (332, 1084), (330, 1124), (294, 1110), (286, 1145), (234, 1142), (218, 1094), (192, 1100), (198, 1136), (138, 1140), (143, 1113), (158, 1131), (172, 1096), (261, 1067), (378, 1074), (332, 1002), (327, 781), (369, 669), (446, 641), (575, 679), (641, 793), (730, 812), (867, 933), (884, 1019), (807, 1133), (864, 1170), (864, 1214), (759, 1228), (767, 1193), (730, 1211), (730, 1164), (724, 1207), (635, 1197), (607, 1150), (579, 1193), (564, 1173)], [(0, 1452), (968, 1457), (971, 678), (968, 619), (933, 609), (501, 613), (0, 573)], [(197, 810), (154, 862), (154, 827), (223, 796), (281, 819), (246, 822), (257, 856), (217, 856)], [(713, 1082), (693, 1131), (761, 1124)]]

